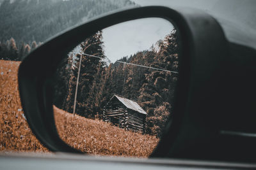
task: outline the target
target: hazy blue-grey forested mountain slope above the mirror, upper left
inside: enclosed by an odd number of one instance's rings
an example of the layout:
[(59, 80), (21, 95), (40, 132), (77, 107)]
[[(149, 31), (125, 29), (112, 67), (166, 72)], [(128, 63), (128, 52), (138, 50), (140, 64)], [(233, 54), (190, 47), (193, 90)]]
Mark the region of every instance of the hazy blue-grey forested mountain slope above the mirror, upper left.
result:
[(88, 18), (134, 5), (129, 0), (5, 0), (0, 6), (0, 41), (44, 42)]

